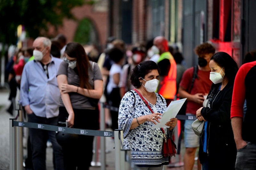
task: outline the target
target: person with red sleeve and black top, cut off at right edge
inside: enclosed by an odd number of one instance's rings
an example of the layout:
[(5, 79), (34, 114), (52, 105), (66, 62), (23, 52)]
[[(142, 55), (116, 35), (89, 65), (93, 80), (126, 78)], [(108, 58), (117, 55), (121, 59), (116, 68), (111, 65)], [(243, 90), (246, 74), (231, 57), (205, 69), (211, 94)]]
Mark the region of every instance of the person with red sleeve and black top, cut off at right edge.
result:
[[(256, 167), (255, 84), (256, 61), (243, 64), (236, 74), (230, 112), (237, 149), (236, 170)], [(245, 116), (244, 100), (247, 106)]]

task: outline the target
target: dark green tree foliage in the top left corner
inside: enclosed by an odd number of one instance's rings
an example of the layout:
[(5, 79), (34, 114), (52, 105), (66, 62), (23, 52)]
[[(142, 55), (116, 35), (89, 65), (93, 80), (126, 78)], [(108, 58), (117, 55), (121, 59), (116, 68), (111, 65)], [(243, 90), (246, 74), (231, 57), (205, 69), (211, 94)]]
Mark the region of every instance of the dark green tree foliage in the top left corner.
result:
[(47, 36), (49, 24), (61, 26), (71, 9), (84, 0), (0, 0), (0, 42), (16, 44), (17, 26), (24, 25), (29, 37)]

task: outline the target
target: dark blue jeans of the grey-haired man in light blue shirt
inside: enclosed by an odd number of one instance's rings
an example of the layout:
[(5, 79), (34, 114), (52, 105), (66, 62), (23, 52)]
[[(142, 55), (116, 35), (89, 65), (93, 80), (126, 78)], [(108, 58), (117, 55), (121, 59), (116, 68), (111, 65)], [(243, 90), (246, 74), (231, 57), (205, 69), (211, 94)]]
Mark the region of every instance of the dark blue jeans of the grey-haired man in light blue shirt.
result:
[[(28, 115), (28, 122), (57, 126), (58, 117), (38, 117), (34, 113)], [(55, 156), (56, 170), (63, 170), (63, 153), (61, 146), (56, 141), (56, 132), (43, 129), (29, 128), (29, 137), (32, 149), (32, 162), (34, 170), (46, 170), (46, 142), (50, 139)]]

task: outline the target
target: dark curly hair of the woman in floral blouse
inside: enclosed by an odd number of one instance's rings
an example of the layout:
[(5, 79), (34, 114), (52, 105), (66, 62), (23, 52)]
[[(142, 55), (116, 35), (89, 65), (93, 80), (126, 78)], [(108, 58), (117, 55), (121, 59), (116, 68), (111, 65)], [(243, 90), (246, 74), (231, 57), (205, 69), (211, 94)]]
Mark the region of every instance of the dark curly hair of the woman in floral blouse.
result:
[(144, 78), (146, 74), (150, 73), (151, 70), (157, 70), (160, 74), (160, 69), (158, 65), (151, 61), (143, 61), (140, 64), (136, 65), (131, 71), (131, 83), (134, 87), (140, 86), (139, 78)]

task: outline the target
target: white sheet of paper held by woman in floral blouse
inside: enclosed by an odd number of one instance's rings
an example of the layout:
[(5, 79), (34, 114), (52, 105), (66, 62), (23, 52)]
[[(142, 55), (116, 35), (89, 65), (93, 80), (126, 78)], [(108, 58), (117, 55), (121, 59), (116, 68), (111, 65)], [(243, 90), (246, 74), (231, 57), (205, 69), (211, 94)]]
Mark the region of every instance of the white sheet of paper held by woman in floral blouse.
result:
[(164, 111), (162, 119), (158, 119), (160, 123), (156, 122), (156, 125), (154, 124), (151, 128), (169, 128), (169, 126), (165, 125), (166, 122), (169, 122), (171, 118), (176, 117), (185, 100), (187, 100), (187, 98), (172, 101)]

